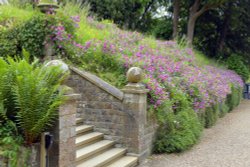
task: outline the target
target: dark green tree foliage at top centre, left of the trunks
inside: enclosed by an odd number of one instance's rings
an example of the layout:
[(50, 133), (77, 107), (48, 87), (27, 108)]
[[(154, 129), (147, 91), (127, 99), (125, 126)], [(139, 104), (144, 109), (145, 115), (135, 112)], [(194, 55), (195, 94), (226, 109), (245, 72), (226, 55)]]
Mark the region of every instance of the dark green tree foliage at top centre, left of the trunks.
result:
[[(135, 30), (143, 24), (155, 0), (88, 0), (90, 10), (99, 19), (110, 19), (125, 29)], [(147, 23), (147, 22), (146, 22)]]

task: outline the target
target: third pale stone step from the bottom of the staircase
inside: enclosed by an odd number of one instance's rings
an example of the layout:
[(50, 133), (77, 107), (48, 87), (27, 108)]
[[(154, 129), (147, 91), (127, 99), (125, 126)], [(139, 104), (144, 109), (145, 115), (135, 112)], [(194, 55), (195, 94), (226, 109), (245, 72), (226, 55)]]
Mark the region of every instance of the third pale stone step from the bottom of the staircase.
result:
[(76, 161), (80, 161), (86, 159), (94, 154), (98, 154), (99, 152), (109, 149), (114, 145), (113, 141), (110, 140), (102, 140), (91, 144), (89, 146), (83, 147), (76, 151)]

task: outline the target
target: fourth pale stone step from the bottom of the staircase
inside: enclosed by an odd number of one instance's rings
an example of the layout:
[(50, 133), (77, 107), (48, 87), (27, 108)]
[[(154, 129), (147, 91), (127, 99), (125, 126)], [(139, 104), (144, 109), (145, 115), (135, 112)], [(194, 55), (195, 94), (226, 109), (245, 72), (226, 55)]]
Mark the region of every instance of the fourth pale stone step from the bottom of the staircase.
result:
[(95, 142), (95, 141), (98, 141), (101, 139), (103, 139), (103, 133), (91, 132), (88, 134), (77, 136), (75, 143), (76, 143), (76, 146), (79, 147), (79, 146), (85, 145), (87, 143)]

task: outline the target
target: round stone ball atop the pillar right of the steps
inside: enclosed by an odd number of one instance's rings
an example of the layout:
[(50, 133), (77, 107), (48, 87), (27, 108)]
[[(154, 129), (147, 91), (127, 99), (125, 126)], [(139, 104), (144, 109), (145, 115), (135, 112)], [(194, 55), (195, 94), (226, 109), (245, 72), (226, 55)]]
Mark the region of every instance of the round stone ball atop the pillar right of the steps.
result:
[(127, 79), (131, 83), (138, 83), (142, 80), (142, 69), (139, 67), (131, 67), (127, 72)]

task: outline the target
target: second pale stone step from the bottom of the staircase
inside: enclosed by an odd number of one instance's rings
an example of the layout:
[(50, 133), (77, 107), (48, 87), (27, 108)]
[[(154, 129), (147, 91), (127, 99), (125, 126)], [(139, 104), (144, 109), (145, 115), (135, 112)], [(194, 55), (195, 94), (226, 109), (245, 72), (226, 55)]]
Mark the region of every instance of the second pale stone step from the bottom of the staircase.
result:
[[(113, 148), (95, 156), (92, 159), (89, 159), (77, 165), (77, 167), (103, 167), (105, 164), (123, 156), (125, 153), (126, 153), (126, 149)], [(120, 167), (120, 166), (116, 166), (116, 167)]]

